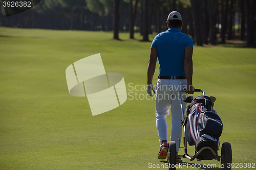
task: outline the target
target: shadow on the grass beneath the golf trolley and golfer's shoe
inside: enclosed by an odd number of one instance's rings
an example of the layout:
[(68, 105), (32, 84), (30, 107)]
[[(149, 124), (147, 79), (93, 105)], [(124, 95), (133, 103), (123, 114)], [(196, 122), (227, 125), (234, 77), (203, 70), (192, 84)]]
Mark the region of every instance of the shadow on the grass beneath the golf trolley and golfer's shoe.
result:
[[(167, 161), (160, 161), (162, 163), (167, 163)], [(217, 164), (200, 164), (200, 163), (190, 163), (190, 162), (183, 162), (182, 160), (176, 163), (176, 169), (182, 168), (193, 168), (193, 169), (204, 169), (204, 170), (221, 170), (222, 168), (219, 167), (219, 163)]]

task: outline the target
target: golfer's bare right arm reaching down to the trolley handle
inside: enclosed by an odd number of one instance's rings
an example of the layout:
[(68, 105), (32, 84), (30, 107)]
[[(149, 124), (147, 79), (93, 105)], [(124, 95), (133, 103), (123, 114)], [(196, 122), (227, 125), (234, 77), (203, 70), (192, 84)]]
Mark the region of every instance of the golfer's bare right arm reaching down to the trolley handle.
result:
[(193, 55), (193, 48), (191, 46), (186, 46), (185, 55), (184, 55), (184, 69), (185, 69), (186, 78), (187, 78), (186, 92), (188, 94), (193, 94), (195, 91), (195, 88), (192, 84), (192, 76), (193, 76), (192, 55)]

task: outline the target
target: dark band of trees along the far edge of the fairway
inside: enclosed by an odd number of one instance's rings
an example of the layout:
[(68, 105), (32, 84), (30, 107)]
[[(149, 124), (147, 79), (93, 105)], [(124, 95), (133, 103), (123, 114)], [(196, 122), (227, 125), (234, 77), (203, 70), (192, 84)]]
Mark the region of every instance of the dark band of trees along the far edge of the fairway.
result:
[(140, 32), (167, 29), (171, 11), (182, 15), (182, 32), (198, 45), (232, 39), (255, 44), (255, 0), (41, 0), (34, 8), (10, 17), (1, 5), (0, 26), (57, 30)]

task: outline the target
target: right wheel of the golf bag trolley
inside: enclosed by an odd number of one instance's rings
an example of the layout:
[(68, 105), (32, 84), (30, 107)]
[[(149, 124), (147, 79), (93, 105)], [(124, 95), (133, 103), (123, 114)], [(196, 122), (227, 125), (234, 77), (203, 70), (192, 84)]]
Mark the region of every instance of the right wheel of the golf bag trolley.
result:
[[(228, 142), (222, 143), (221, 146), (221, 164), (224, 166), (223, 170), (230, 170), (231, 169), (231, 163), (232, 163), (232, 150), (231, 145)], [(224, 165), (223, 165), (224, 164)]]

